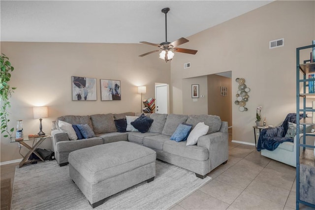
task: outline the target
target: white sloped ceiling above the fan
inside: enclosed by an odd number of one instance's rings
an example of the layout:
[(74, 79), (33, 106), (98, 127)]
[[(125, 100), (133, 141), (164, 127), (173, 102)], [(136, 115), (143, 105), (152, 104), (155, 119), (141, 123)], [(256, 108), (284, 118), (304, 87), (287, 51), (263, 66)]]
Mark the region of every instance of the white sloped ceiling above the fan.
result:
[(1, 41), (139, 43), (187, 37), (266, 0), (1, 0)]

